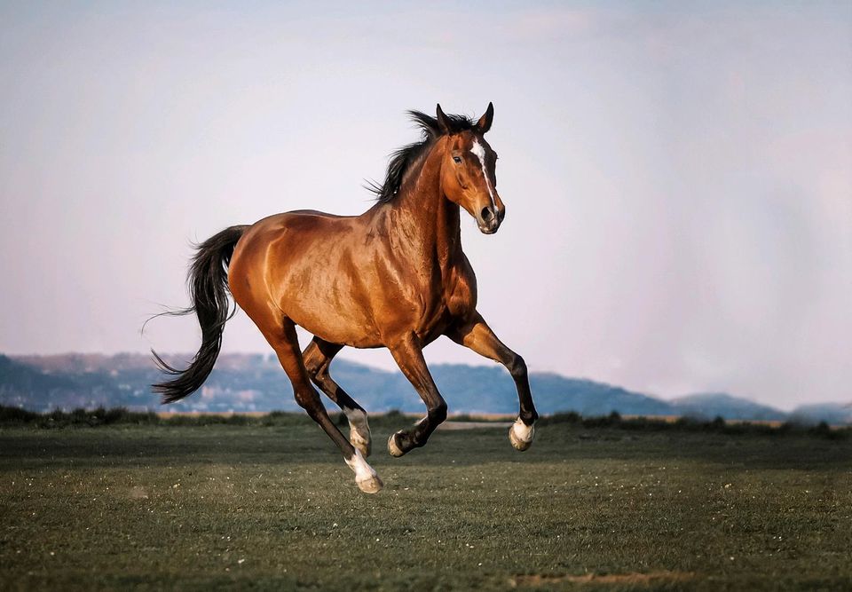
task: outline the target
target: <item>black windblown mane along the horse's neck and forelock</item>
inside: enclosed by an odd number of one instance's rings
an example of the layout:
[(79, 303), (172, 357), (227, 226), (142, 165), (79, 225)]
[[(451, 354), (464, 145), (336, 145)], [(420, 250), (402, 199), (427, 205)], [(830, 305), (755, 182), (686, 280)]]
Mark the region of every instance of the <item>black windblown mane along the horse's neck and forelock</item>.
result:
[[(408, 111), (407, 113), (411, 117), (411, 121), (420, 127), (422, 139), (419, 142), (414, 142), (414, 144), (402, 146), (390, 154), (388, 171), (385, 173), (384, 182), (381, 185), (375, 183), (375, 181), (367, 182), (367, 189), (375, 193), (375, 201), (379, 203), (387, 203), (397, 196), (399, 188), (402, 186), (402, 179), (405, 178), (411, 165), (422, 154), (429, 151), (432, 142), (444, 135), (435, 117), (430, 117), (430, 115), (420, 111)], [(449, 133), (473, 130), (477, 125), (477, 122), (465, 115), (446, 115), (446, 119), (450, 124)]]

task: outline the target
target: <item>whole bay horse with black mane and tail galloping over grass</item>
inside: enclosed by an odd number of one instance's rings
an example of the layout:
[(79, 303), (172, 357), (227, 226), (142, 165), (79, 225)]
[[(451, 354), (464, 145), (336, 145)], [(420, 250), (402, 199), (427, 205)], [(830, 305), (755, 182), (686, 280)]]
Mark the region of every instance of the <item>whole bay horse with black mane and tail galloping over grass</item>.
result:
[[(493, 234), (506, 214), (497, 193), (497, 154), (485, 133), (489, 103), (477, 121), (409, 111), (422, 139), (391, 155), (372, 208), (360, 216), (297, 210), (254, 225), (232, 226), (201, 243), (189, 272), (201, 348), (189, 367), (154, 358), (170, 380), (154, 384), (163, 403), (201, 387), (216, 362), (229, 314), (228, 290), (278, 354), (299, 406), (326, 431), (355, 472), (360, 490), (376, 493), (382, 480), (365, 460), (371, 438), (367, 412), (328, 373), (344, 345), (386, 347), (426, 404), (426, 416), (390, 435), (388, 451), (402, 456), (423, 446), (446, 419), (446, 402), (423, 359), (422, 348), (440, 335), (500, 362), (515, 381), (517, 421), (509, 441), (517, 450), (533, 442), (533, 406), (524, 359), (494, 335), (477, 312), (477, 278), (461, 250), (461, 209)], [(236, 307), (234, 308), (234, 312)], [(314, 335), (300, 351), (296, 325)], [(329, 419), (319, 393), (343, 410), (350, 435)]]

